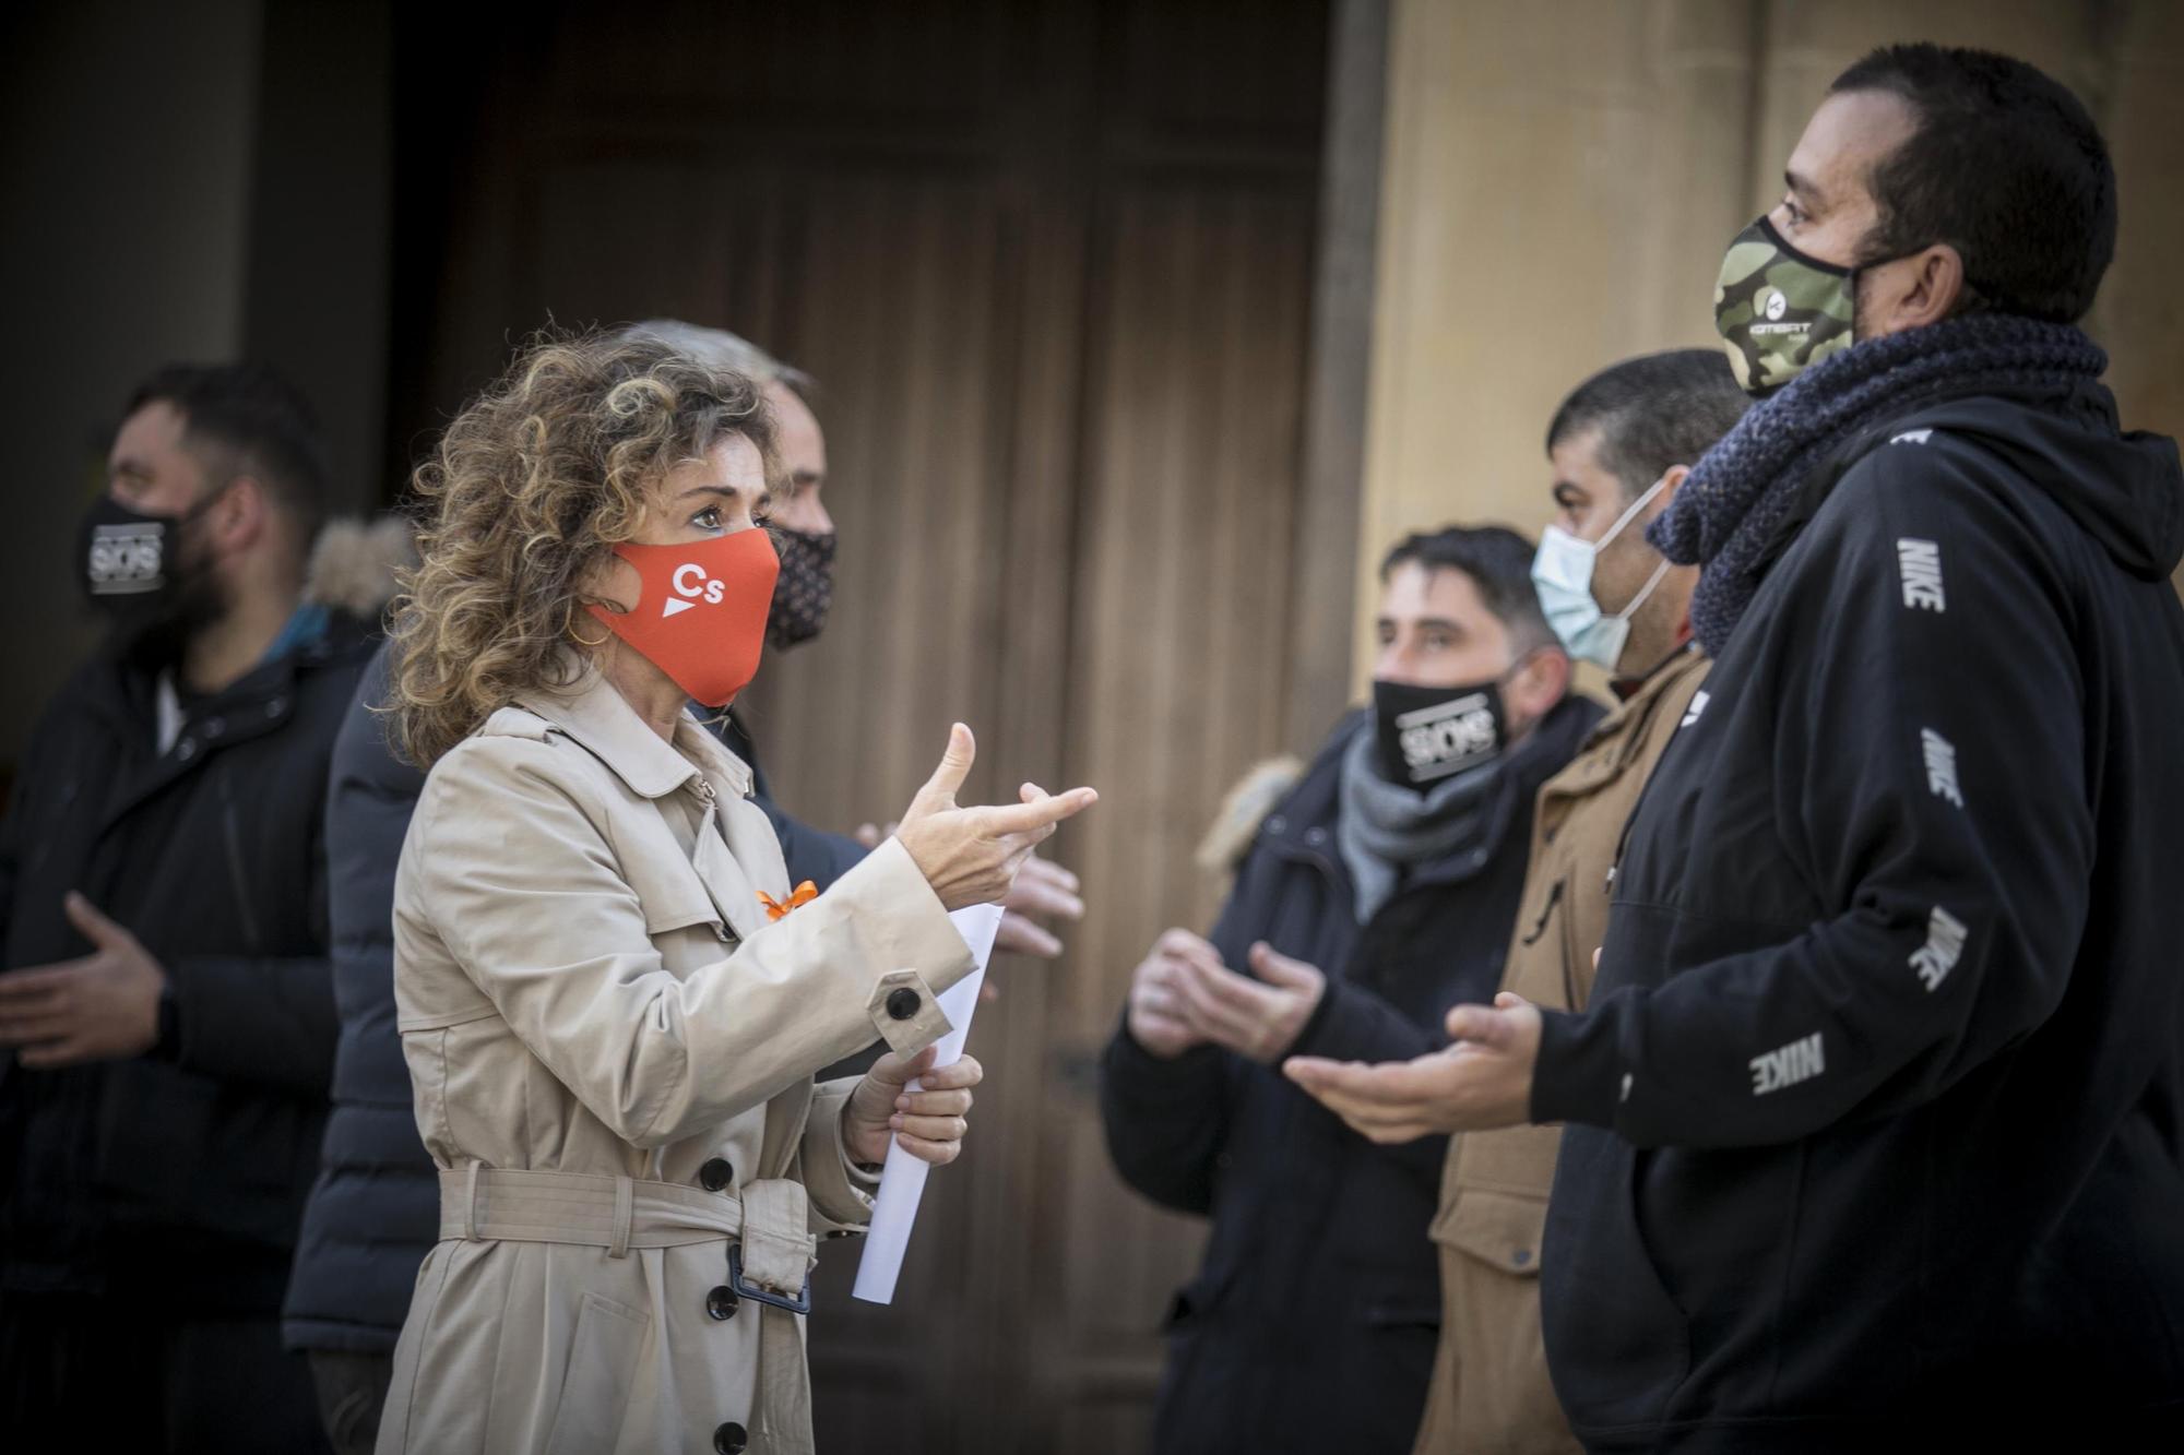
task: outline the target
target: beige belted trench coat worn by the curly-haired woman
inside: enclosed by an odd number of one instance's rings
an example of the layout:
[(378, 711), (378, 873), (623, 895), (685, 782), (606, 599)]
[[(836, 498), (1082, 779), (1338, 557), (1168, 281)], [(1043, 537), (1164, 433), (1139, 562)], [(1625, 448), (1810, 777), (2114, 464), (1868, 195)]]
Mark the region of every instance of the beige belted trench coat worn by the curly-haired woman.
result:
[(970, 953), (893, 841), (769, 924), (758, 894), (788, 883), (749, 786), (596, 673), (432, 767), (395, 1003), (441, 1243), (382, 1455), (810, 1448), (804, 1317), (760, 1296), (795, 1296), (874, 1186), (841, 1138), (854, 1081), (812, 1070), (876, 1031), (937, 1040)]

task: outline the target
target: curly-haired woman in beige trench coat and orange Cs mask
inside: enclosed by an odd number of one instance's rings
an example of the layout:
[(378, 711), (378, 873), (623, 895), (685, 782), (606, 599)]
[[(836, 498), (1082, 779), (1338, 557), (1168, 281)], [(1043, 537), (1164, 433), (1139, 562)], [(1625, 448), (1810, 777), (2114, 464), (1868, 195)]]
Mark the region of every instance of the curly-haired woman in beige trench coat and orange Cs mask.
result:
[[(957, 725), (895, 837), (791, 896), (690, 710), (758, 666), (771, 452), (753, 380), (594, 334), (529, 347), (417, 472), (395, 1003), (441, 1241), (380, 1451), (808, 1451), (819, 1237), (869, 1219), (891, 1136), (961, 1147), (978, 1066), (926, 1055), (970, 970), (946, 911), (1094, 795), (957, 808)], [(871, 1073), (812, 1084), (874, 1031)]]

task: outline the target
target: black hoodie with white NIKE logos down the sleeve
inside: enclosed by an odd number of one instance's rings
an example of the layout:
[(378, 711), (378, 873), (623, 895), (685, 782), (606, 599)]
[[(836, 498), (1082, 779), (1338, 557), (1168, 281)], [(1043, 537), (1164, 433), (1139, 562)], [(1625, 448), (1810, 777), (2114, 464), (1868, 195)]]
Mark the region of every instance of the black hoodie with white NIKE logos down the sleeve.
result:
[(1555, 1389), (1599, 1451), (2184, 1448), (2175, 443), (1959, 400), (1808, 498), (1546, 1020)]

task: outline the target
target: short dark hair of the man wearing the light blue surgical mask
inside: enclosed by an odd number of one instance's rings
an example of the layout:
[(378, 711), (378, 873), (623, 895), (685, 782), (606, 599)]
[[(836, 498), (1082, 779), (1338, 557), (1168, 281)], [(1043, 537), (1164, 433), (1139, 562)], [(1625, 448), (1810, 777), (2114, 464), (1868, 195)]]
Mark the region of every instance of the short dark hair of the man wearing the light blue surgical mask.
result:
[(1749, 406), (1721, 350), (1640, 354), (1572, 389), (1546, 426), (1546, 448), (1599, 428), (1601, 465), (1636, 500), (1669, 465), (1697, 465)]

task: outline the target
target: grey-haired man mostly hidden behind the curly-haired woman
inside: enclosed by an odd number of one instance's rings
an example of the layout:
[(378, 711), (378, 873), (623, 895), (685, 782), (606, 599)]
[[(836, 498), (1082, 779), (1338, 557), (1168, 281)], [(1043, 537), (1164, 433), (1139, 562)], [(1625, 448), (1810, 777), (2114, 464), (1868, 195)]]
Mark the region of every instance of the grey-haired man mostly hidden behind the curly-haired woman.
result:
[[(782, 570), (767, 642), (786, 651), (817, 638), (834, 594), (834, 522), (821, 502), (826, 435), (804, 398), (810, 380), (714, 328), (655, 319), (631, 326), (631, 332), (749, 374), (767, 387), (788, 481), (769, 520)], [(384, 719), (371, 710), (382, 699), (384, 682), (380, 653), (334, 747), (328, 856), (341, 1051), (323, 1164), (304, 1212), (295, 1278), (282, 1311), (288, 1348), (310, 1355), (325, 1433), (341, 1455), (371, 1451), (378, 1438), (417, 1265), (439, 1239), (439, 1173), (417, 1136), (393, 998), (395, 863), (424, 776), (391, 752)], [(701, 717), (714, 719), (712, 710), (701, 710)], [(758, 771), (758, 752), (736, 714), (716, 730), (751, 765), (753, 800), (773, 819), (791, 883), (810, 880), (826, 889), (865, 856), (867, 845), (856, 839), (810, 828), (773, 802)], [(1066, 870), (1037, 859), (1026, 863), (998, 948), (1057, 957), (1061, 944), (1029, 913), (1081, 918), (1075, 889), (1077, 880)], [(826, 1075), (850, 1075), (874, 1057), (876, 1051), (852, 1057)]]

